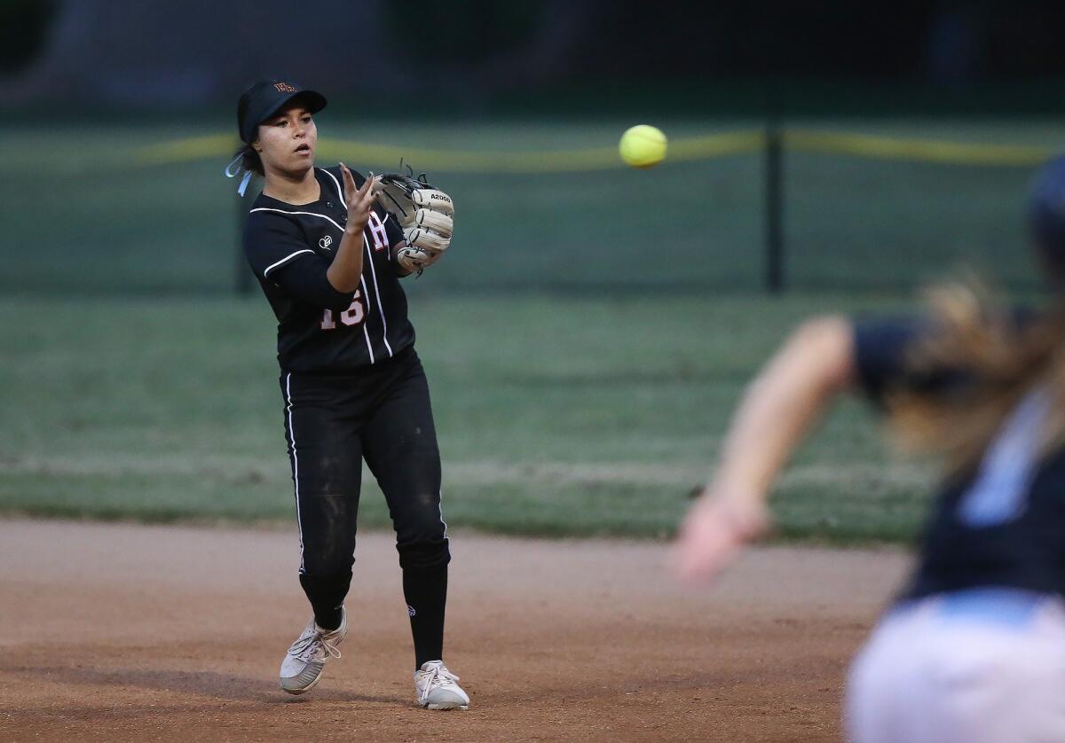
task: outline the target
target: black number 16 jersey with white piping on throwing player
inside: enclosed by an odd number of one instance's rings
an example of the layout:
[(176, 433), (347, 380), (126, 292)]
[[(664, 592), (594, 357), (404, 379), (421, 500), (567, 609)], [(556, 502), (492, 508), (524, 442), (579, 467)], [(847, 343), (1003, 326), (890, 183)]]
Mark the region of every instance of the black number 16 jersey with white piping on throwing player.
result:
[[(353, 171), (357, 184), (365, 179)], [(363, 232), (362, 280), (333, 288), (326, 270), (347, 221), (339, 167), (314, 168), (322, 194), (294, 205), (260, 194), (244, 230), (244, 250), (277, 315), (277, 358), (284, 372), (357, 370), (414, 343), (393, 248), (403, 230), (379, 204)]]

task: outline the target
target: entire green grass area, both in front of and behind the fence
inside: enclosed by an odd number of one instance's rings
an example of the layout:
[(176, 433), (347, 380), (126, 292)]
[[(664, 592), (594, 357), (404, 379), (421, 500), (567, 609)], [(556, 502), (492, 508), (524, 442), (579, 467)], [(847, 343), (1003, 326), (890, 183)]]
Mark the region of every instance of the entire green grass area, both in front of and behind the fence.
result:
[[(759, 125), (653, 122), (672, 137)], [(477, 152), (612, 147), (630, 123), (318, 117), (323, 143)], [(231, 297), (248, 201), (222, 177), (225, 156), (137, 161), (146, 146), (230, 126), (0, 125), (0, 510), (291, 522), (273, 316), (258, 291)], [(788, 126), (1065, 143), (1056, 121)], [(785, 162), (797, 293), (781, 300), (757, 294), (760, 153), (650, 171), (430, 174), (455, 197), (458, 231), (447, 260), (407, 286), (454, 526), (669, 534), (744, 381), (797, 318), (898, 309), (861, 292), (904, 296), (963, 260), (1000, 283), (1033, 281), (1021, 229), (1031, 168), (814, 152)], [(891, 462), (868, 411), (849, 401), (781, 483), (781, 532), (906, 539), (929, 490), (929, 473)], [(363, 523), (383, 526), (374, 488), (364, 502)]]

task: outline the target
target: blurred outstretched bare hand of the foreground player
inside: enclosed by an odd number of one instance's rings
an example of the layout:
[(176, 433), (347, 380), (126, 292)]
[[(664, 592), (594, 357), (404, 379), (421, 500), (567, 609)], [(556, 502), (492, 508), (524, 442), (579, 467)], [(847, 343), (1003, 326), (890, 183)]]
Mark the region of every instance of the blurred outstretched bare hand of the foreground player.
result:
[(736, 558), (744, 543), (768, 529), (769, 512), (760, 493), (708, 488), (681, 525), (672, 571), (684, 580), (708, 580)]

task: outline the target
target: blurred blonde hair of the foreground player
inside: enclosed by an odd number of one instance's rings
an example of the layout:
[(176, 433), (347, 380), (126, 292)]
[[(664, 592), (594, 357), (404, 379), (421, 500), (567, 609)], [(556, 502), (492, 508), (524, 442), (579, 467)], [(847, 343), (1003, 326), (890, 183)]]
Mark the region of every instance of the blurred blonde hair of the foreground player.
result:
[(943, 459), (950, 475), (979, 464), (1006, 415), (1035, 387), (1049, 393), (1044, 456), (1065, 441), (1065, 302), (1018, 318), (974, 279), (928, 291), (931, 330), (906, 359), (917, 378), (957, 374), (951, 383), (888, 398), (898, 441)]

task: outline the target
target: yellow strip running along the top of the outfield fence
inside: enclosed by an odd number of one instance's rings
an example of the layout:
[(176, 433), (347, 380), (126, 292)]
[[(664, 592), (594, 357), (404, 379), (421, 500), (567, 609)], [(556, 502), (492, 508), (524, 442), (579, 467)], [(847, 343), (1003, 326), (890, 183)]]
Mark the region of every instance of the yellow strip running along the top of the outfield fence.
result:
[[(953, 165), (1033, 166), (1058, 151), (1038, 145), (947, 142), (802, 129), (785, 130), (782, 144), (786, 150)], [(692, 162), (744, 154), (756, 152), (765, 146), (766, 133), (761, 130), (677, 137), (670, 141), (666, 162)], [(198, 160), (222, 162), (235, 147), (236, 143), (231, 135), (210, 134), (144, 147), (136, 153), (136, 162), (141, 165), (168, 165)], [(618, 156), (617, 147), (612, 146), (542, 152), (493, 152), (322, 139), (318, 143), (318, 154), (327, 161), (346, 160), (360, 165), (388, 167), (397, 167), (403, 158), (419, 169), (445, 172), (538, 175), (625, 167)]]

